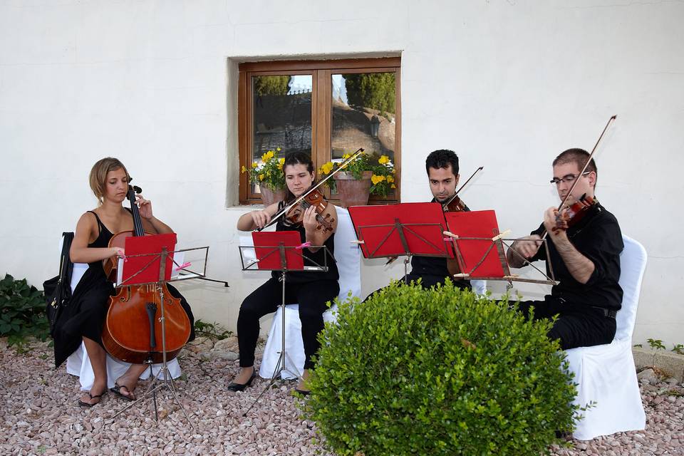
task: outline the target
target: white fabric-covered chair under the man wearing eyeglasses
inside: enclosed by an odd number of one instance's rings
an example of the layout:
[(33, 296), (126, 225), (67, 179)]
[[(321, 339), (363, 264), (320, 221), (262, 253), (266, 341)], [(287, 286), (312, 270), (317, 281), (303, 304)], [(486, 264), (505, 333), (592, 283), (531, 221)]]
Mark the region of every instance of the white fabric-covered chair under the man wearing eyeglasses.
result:
[(625, 249), (620, 254), (623, 298), (616, 318), (615, 338), (606, 345), (566, 350), (570, 371), (575, 374), (574, 383), (578, 384), (574, 403), (581, 406), (590, 401), (596, 403), (577, 423), (573, 436), (578, 440), (641, 430), (646, 426), (632, 356), (632, 332), (647, 255), (646, 249), (634, 239), (623, 236), (623, 242)]

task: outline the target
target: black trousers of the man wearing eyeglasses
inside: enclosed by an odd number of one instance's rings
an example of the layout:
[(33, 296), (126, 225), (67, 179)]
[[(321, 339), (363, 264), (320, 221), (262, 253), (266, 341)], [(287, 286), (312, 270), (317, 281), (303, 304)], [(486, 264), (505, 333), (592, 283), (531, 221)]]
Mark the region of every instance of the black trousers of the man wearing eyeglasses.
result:
[(558, 339), (563, 350), (591, 347), (611, 343), (615, 337), (615, 318), (604, 316), (602, 309), (569, 304), (556, 299), (546, 301), (522, 301), (519, 310), (529, 318), (529, 308), (534, 307), (533, 320), (556, 319), (547, 336)]

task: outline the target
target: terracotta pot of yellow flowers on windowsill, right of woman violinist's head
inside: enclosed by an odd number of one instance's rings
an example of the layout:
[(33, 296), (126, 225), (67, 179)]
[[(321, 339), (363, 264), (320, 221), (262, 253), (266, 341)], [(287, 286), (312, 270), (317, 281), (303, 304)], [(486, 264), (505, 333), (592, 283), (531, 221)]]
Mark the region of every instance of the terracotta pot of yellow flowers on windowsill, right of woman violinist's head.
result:
[[(343, 160), (351, 157), (344, 154)], [(318, 172), (324, 178), (337, 170), (341, 162), (327, 162)], [(373, 155), (363, 153), (356, 160), (348, 163), (344, 170), (336, 172), (332, 179), (326, 181), (331, 191), (337, 192), (343, 207), (359, 206), (368, 204), (370, 195), (387, 197), (390, 190), (395, 189), (396, 170), (387, 155), (375, 158)]]

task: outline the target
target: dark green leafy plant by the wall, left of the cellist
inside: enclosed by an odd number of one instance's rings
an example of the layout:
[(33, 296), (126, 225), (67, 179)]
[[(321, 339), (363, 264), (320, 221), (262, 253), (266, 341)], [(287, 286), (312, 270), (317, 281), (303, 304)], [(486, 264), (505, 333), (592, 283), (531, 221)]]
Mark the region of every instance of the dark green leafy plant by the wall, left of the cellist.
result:
[(6, 274), (0, 281), (0, 336), (21, 345), (28, 336), (45, 341), (49, 333), (43, 291)]

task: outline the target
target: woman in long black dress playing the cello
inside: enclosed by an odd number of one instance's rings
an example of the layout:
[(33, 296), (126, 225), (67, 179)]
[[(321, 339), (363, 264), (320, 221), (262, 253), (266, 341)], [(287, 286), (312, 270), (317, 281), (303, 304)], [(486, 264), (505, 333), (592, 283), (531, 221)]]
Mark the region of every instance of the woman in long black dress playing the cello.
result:
[[(98, 207), (81, 215), (69, 252), (71, 261), (88, 263), (88, 269), (73, 291), (68, 308), (56, 323), (55, 363), (56, 366), (63, 363), (83, 341), (95, 376), (93, 387), (78, 401), (79, 405), (86, 407), (99, 403), (107, 391), (107, 353), (102, 346), (101, 333), (114, 287), (105, 276), (103, 260), (125, 256), (122, 248), (108, 247), (108, 244), (115, 233), (133, 229), (131, 212), (122, 204), (128, 192), (128, 182), (128, 171), (116, 158), (103, 158), (93, 165), (90, 171), (90, 189), (98, 199)], [(140, 208), (145, 232), (172, 232), (167, 224), (152, 214), (150, 200), (138, 195), (136, 204)], [(194, 319), (187, 301), (176, 289), (169, 289), (172, 295), (181, 299), (181, 305), (187, 312), (192, 327)], [(194, 338), (194, 333), (191, 333), (190, 338)], [(134, 400), (133, 390), (145, 368), (142, 364), (131, 365), (124, 375), (116, 379), (112, 391), (123, 398)]]

